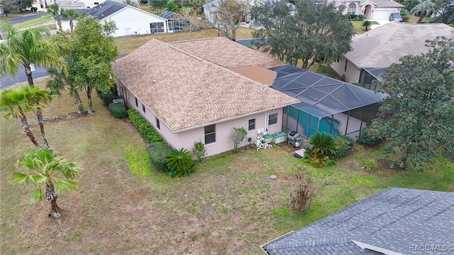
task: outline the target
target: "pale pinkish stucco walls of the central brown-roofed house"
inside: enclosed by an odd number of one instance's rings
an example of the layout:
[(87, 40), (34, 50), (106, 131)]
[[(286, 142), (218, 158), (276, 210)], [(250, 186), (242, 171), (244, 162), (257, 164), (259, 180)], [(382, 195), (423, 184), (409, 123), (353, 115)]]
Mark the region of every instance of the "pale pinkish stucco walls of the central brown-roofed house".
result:
[[(123, 89), (122, 89), (123, 88)], [(182, 131), (182, 132), (172, 132), (170, 128), (165, 125), (165, 123), (160, 120), (160, 129), (157, 128), (156, 124), (156, 116), (154, 113), (150, 111), (149, 108), (145, 107), (145, 113), (143, 112), (143, 104), (140, 99), (137, 99), (138, 105), (135, 105), (135, 96), (128, 91), (128, 89), (124, 88), (120, 82), (117, 83), (118, 94), (123, 97), (123, 100), (126, 102), (129, 108), (133, 108), (138, 111), (141, 115), (143, 115), (148, 122), (153, 125), (153, 128), (160, 133), (160, 135), (164, 138), (164, 140), (174, 148), (185, 148), (189, 151), (192, 151), (194, 147), (194, 142), (205, 142), (205, 130), (204, 126), (199, 128), (194, 128), (192, 130)], [(274, 125), (267, 125), (267, 114), (277, 113), (277, 123)], [(240, 118), (236, 118), (233, 120), (223, 121), (216, 123), (216, 142), (211, 144), (205, 145), (207, 156), (212, 156), (215, 154), (219, 154), (221, 152), (226, 152), (228, 150), (233, 149), (233, 142), (230, 140), (230, 136), (233, 133), (233, 127), (235, 128), (245, 128), (248, 130), (249, 120), (255, 118), (255, 129), (248, 131), (248, 135), (246, 137), (251, 137), (252, 142), (255, 142), (255, 137), (258, 136), (257, 130), (258, 129), (268, 129), (268, 134), (275, 134), (277, 132), (282, 131), (282, 108), (277, 108), (274, 111), (262, 112), (262, 113), (255, 113), (248, 116), (243, 116)], [(266, 120), (266, 122), (265, 122)], [(248, 144), (247, 138), (245, 141), (240, 145), (244, 146)]]

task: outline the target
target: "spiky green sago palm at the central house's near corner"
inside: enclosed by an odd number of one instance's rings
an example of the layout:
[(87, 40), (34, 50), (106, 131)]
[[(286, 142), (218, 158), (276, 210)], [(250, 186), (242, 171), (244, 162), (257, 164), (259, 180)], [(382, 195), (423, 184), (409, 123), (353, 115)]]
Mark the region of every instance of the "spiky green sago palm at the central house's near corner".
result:
[(187, 176), (194, 167), (194, 159), (187, 149), (172, 149), (165, 161), (170, 170), (169, 176)]

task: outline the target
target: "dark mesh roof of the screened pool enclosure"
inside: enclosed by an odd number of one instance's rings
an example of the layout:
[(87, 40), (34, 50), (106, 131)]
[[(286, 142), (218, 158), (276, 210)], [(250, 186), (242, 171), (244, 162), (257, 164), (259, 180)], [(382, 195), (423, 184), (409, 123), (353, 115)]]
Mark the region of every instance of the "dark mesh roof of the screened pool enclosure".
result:
[(287, 65), (270, 69), (277, 72), (272, 88), (297, 98), (302, 103), (292, 106), (317, 118), (368, 106), (386, 98), (385, 94), (298, 67)]

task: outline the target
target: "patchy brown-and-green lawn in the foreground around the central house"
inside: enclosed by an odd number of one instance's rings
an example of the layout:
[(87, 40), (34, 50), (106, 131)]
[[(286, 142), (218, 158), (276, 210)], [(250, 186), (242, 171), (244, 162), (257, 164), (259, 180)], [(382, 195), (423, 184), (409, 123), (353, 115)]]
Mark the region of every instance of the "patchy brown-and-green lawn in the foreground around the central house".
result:
[[(293, 216), (289, 173), (304, 163), (284, 149), (228, 152), (170, 179), (151, 170), (140, 134), (97, 96), (94, 111), (68, 115), (74, 104), (63, 96), (44, 113), (53, 119), (45, 125), (51, 147), (83, 168), (79, 191), (60, 197), (58, 220), (47, 216), (47, 203), (28, 203), (30, 188), (11, 186), (14, 163), (33, 146), (18, 120), (1, 120), (0, 254), (262, 254), (260, 244), (389, 186), (454, 191), (453, 163), (438, 160), (420, 173), (388, 169), (379, 149), (355, 146), (335, 166), (309, 168), (314, 203)], [(28, 119), (40, 139), (34, 116)], [(372, 157), (381, 169), (361, 169)]]

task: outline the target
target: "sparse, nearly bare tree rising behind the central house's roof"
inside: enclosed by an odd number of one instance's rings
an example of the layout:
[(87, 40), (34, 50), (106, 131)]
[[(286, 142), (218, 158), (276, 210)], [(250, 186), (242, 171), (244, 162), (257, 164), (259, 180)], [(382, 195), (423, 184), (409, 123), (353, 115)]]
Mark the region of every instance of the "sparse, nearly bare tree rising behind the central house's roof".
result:
[(240, 27), (243, 16), (250, 6), (246, 1), (218, 0), (212, 1), (214, 23), (218, 31), (226, 38), (235, 41), (236, 30)]

